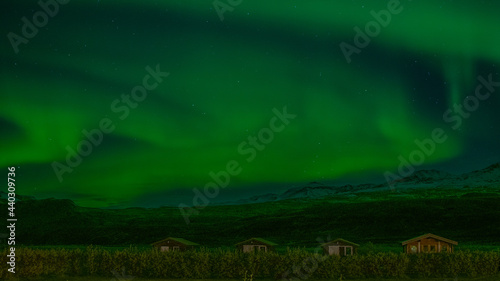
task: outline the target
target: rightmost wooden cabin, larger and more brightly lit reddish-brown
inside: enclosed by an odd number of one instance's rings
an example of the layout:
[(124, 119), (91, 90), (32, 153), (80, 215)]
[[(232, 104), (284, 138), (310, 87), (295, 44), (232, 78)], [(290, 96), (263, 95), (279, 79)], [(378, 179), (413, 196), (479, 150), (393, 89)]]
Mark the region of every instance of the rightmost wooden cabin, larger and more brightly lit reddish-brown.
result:
[(452, 253), (458, 242), (427, 233), (401, 243), (406, 254)]

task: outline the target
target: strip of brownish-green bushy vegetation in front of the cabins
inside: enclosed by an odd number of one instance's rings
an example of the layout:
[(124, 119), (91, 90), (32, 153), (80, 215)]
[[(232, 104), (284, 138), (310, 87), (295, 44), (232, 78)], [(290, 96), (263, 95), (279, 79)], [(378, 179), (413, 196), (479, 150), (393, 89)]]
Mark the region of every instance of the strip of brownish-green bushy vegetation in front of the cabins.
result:
[[(0, 262), (6, 264), (7, 251)], [(16, 274), (1, 278), (183, 278), (183, 279), (364, 279), (455, 278), (498, 274), (500, 252), (458, 251), (452, 254), (405, 255), (374, 253), (349, 257), (325, 256), (303, 249), (285, 253), (242, 253), (220, 249), (187, 252), (158, 250), (81, 249), (16, 250)], [(118, 277), (117, 277), (118, 276)]]

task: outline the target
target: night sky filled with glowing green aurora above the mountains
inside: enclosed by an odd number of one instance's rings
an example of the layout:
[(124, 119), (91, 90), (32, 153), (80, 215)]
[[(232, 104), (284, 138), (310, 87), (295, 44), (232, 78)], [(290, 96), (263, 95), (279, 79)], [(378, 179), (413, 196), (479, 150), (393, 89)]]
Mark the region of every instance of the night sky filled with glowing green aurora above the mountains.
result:
[(28, 39), (42, 8), (3, 1), (0, 166), (18, 194), (125, 207), (191, 205), (228, 163), (213, 202), (383, 182), (436, 128), (417, 169), (499, 162), (500, 86), (478, 76), (500, 81), (500, 3), (401, 0), (348, 62), (341, 43), (390, 2), (243, 0), (221, 20), (211, 1), (72, 0)]

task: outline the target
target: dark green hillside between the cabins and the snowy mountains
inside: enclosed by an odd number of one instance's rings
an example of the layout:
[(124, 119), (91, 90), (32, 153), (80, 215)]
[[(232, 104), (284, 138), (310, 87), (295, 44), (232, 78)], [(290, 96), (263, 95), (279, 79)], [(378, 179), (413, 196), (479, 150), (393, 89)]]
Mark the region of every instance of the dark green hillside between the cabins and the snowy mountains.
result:
[(431, 232), (458, 241), (459, 248), (498, 248), (500, 196), (479, 191), (474, 196), (459, 188), (387, 191), (208, 206), (192, 215), (189, 225), (174, 207), (104, 210), (69, 200), (21, 201), (16, 211), (22, 224), (16, 232), (18, 241), (37, 246), (148, 246), (172, 236), (207, 247), (233, 247), (263, 237), (286, 249), (314, 248), (317, 238), (341, 237), (361, 245), (371, 242), (382, 251), (400, 251), (401, 241)]

